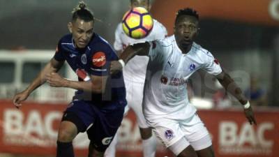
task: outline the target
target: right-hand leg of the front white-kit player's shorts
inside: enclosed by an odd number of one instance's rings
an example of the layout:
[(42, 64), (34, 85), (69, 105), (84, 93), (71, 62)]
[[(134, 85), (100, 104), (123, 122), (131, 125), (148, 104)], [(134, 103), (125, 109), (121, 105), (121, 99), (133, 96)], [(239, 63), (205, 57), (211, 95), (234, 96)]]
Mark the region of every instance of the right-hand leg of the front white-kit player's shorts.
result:
[(183, 121), (181, 129), (195, 151), (206, 149), (212, 145), (209, 131), (197, 114)]

